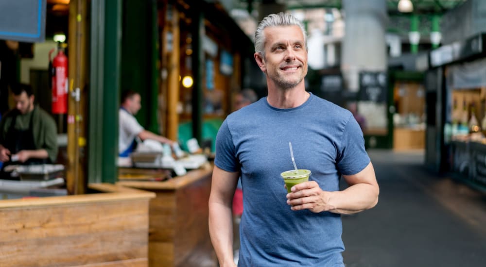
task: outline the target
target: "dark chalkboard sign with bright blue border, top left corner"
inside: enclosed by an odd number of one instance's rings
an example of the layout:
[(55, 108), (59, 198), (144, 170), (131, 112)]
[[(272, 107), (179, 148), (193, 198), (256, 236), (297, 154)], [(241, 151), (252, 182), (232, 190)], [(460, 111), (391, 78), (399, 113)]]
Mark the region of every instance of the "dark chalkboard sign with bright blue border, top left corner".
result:
[(0, 39), (43, 42), (46, 32), (46, 0), (1, 0)]

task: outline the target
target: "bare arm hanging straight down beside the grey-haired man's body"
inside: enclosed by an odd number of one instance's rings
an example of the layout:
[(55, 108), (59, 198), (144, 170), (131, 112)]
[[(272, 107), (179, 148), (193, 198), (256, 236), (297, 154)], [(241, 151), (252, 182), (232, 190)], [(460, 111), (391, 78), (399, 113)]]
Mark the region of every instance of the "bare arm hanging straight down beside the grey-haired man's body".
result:
[(209, 234), (220, 267), (234, 267), (232, 200), (239, 172), (214, 166), (209, 196)]

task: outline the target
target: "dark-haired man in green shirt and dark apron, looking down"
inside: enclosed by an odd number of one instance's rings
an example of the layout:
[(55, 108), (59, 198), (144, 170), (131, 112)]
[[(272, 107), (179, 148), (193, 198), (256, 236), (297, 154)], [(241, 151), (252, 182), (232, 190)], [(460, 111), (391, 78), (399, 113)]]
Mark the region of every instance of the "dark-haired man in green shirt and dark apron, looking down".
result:
[(34, 104), (32, 87), (12, 88), (15, 109), (0, 122), (0, 161), (10, 164), (53, 163), (57, 157), (57, 128), (54, 119)]

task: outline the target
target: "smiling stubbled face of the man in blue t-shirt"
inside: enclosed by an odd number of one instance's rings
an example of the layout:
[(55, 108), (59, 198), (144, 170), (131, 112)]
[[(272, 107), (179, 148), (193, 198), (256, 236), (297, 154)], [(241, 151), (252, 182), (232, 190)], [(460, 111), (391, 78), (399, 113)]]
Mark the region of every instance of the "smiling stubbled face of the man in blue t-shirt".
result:
[(307, 50), (300, 27), (267, 27), (263, 33), (265, 57), (260, 69), (278, 88), (294, 88), (307, 74)]

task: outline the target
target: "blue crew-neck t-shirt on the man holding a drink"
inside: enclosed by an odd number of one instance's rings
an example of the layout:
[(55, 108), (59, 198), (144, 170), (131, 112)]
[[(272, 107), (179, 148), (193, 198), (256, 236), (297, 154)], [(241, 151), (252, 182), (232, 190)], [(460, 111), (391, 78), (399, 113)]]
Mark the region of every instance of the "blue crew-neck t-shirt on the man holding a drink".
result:
[(278, 109), (266, 98), (230, 114), (216, 137), (215, 165), (241, 171), (243, 216), (239, 266), (344, 267), (339, 214), (292, 211), (280, 173), (298, 168), (326, 191), (341, 174), (360, 172), (370, 160), (352, 114), (311, 94), (302, 105)]

